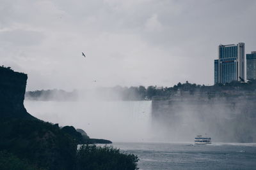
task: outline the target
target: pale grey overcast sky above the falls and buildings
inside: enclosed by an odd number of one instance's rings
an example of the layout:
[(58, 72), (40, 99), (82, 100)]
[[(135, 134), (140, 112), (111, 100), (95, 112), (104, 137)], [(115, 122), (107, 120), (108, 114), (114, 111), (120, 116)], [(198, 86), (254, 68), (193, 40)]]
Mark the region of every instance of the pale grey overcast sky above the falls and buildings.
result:
[(253, 0), (0, 0), (0, 64), (27, 90), (211, 85), (220, 43), (256, 50), (255, 20)]

